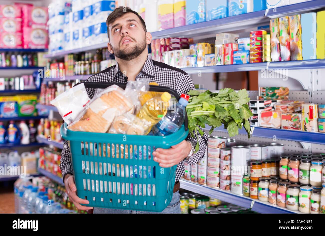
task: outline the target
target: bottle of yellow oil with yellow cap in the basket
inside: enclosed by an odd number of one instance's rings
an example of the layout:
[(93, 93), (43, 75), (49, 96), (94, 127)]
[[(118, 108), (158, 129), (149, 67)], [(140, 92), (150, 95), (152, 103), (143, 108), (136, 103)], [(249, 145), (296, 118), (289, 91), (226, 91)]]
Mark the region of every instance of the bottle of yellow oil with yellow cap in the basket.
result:
[(157, 124), (161, 118), (166, 114), (168, 109), (168, 101), (171, 96), (168, 92), (164, 92), (161, 97), (154, 97), (149, 99), (141, 108), (137, 117), (151, 122), (146, 135), (150, 132), (153, 125)]

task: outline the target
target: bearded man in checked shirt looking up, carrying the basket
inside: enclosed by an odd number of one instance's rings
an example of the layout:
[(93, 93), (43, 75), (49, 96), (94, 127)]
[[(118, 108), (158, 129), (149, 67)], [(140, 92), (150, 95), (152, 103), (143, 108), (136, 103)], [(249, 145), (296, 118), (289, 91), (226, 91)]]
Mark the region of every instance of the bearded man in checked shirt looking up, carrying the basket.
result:
[[(96, 75), (91, 76), (86, 82), (114, 82), (126, 83), (128, 80), (149, 78), (161, 86), (175, 89), (178, 94), (187, 93), (195, 89), (192, 79), (184, 71), (175, 67), (156, 62), (148, 57), (147, 46), (151, 43), (152, 36), (146, 30), (144, 20), (128, 7), (116, 8), (107, 18), (107, 33), (110, 53), (115, 54), (117, 64), (111, 66)], [(87, 89), (90, 98), (94, 96), (94, 89)], [(193, 153), (197, 142), (196, 136), (188, 135), (187, 139), (169, 149), (157, 148), (153, 152), (154, 160), (164, 168), (178, 165), (175, 176), (173, 198), (162, 213), (180, 213), (179, 203), (179, 179), (184, 175), (184, 163), (194, 165), (199, 162), (206, 150), (207, 135), (199, 136), (200, 149)], [(73, 179), (71, 156), (69, 145), (66, 141), (61, 154), (63, 181), (65, 183), (69, 199), (81, 210), (89, 210), (92, 207), (80, 204), (89, 204), (89, 201), (76, 195), (76, 186)], [(108, 208), (96, 208), (94, 213), (148, 213), (131, 210), (118, 210)]]

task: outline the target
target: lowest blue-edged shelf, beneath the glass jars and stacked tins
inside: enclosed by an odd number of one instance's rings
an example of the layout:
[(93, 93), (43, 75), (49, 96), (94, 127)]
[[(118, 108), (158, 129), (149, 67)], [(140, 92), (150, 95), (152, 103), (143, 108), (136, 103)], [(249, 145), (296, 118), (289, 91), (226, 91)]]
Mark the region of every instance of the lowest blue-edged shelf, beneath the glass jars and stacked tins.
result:
[(268, 202), (262, 202), (259, 200), (254, 200), (250, 197), (232, 194), (230, 191), (221, 190), (218, 188), (210, 188), (208, 186), (191, 183), (186, 180), (180, 180), (179, 182), (180, 188), (182, 189), (209, 197), (214, 197), (221, 201), (235, 204), (237, 206), (252, 208), (253, 211), (259, 213), (300, 213), (299, 211), (291, 211), (283, 207), (273, 206)]

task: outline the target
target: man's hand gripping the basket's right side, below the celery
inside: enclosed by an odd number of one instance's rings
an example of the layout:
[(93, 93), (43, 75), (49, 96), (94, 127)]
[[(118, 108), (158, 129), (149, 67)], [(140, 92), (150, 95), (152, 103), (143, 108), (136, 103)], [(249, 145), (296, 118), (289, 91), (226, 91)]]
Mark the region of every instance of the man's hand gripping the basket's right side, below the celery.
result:
[(185, 159), (191, 151), (191, 148), (191, 144), (183, 140), (169, 149), (157, 148), (152, 154), (154, 161), (159, 162), (160, 167), (167, 168), (175, 166)]

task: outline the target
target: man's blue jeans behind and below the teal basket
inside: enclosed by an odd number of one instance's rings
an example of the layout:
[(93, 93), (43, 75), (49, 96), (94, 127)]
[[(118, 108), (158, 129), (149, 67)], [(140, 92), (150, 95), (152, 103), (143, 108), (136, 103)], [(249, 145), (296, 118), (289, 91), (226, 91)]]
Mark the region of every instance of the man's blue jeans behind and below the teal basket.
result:
[(98, 208), (94, 207), (94, 214), (180, 214), (181, 205), (179, 202), (179, 191), (173, 194), (172, 201), (162, 212), (153, 211), (135, 211), (135, 210), (120, 210), (120, 209), (110, 209), (110, 208)]

